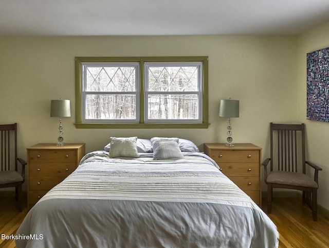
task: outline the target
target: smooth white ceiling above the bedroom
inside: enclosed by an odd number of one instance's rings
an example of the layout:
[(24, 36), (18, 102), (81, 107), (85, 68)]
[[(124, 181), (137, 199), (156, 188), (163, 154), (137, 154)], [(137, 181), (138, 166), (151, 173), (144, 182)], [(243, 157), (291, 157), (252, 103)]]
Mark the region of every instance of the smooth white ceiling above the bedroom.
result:
[(329, 0), (0, 0), (0, 36), (298, 34)]

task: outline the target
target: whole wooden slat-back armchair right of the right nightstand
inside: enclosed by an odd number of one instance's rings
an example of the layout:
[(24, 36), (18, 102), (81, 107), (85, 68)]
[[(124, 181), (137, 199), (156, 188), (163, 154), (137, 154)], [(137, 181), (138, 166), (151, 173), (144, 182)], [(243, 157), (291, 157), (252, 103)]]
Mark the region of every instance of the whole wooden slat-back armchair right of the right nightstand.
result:
[[(270, 162), (270, 171), (267, 165)], [(306, 165), (315, 169), (314, 178), (306, 175)], [(317, 220), (318, 173), (322, 170), (305, 161), (304, 123), (270, 123), (270, 157), (263, 162), (265, 183), (267, 184), (267, 212), (271, 213), (272, 189), (287, 188), (303, 191), (302, 201), (312, 209), (313, 220)], [(301, 172), (298, 172), (299, 170)]]

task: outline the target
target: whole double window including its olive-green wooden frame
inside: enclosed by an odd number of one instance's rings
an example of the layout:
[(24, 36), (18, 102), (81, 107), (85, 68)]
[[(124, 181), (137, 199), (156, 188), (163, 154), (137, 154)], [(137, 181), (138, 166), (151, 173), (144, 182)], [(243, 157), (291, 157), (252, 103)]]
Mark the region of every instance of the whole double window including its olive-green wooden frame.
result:
[(207, 57), (76, 58), (77, 128), (207, 128)]

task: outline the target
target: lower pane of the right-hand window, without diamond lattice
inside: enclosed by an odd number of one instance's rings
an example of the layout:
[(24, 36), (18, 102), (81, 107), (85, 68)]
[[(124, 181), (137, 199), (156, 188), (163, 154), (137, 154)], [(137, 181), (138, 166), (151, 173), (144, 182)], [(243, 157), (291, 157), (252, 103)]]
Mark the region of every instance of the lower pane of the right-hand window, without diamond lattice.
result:
[(197, 120), (198, 95), (157, 94), (148, 96), (149, 120)]

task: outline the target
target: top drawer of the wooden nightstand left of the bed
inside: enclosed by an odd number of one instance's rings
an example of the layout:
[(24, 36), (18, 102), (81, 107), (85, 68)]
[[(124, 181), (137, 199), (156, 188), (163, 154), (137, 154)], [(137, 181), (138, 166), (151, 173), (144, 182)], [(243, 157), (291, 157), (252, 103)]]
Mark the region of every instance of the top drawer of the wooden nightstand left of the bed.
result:
[(29, 163), (76, 163), (75, 150), (31, 150)]

